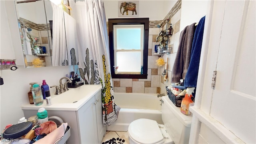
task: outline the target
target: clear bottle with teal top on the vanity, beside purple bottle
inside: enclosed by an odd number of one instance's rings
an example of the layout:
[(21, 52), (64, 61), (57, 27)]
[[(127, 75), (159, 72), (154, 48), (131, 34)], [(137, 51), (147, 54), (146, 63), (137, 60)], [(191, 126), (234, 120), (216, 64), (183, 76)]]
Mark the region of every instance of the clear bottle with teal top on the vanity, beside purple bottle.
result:
[(33, 85), (32, 94), (33, 94), (33, 99), (34, 99), (34, 105), (40, 106), (41, 104), (44, 103), (42, 90), (39, 87), (39, 84), (34, 84)]

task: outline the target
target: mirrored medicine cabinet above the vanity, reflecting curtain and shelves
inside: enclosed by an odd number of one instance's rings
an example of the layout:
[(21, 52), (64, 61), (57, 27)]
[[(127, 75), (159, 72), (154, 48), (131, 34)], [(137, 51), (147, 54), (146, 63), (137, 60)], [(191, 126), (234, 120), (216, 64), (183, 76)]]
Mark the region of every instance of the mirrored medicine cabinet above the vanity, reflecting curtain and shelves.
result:
[(76, 21), (50, 0), (15, 0), (26, 68), (78, 65)]

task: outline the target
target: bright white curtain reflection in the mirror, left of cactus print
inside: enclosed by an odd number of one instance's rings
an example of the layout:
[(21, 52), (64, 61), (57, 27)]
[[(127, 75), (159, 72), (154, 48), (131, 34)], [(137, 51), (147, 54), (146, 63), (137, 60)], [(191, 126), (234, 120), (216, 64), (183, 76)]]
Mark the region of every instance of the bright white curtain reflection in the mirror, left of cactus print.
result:
[(68, 61), (64, 12), (52, 3), (52, 66), (66, 66)]

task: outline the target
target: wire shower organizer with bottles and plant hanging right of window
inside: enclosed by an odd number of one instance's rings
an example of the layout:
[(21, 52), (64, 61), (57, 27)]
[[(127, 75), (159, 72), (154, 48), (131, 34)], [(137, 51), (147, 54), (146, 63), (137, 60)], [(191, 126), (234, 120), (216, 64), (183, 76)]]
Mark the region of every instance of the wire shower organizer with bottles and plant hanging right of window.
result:
[[(164, 29), (164, 25), (166, 25), (165, 29)], [(166, 19), (162, 21), (160, 24), (158, 24), (157, 26), (158, 28), (160, 28), (159, 34), (156, 37), (156, 42), (159, 42), (159, 46), (157, 48), (157, 52), (155, 53), (155, 55), (162, 56), (164, 54), (170, 54), (172, 52), (172, 47), (168, 46), (168, 38), (169, 36), (172, 35), (172, 32), (173, 32), (172, 24), (169, 24), (169, 19)]]

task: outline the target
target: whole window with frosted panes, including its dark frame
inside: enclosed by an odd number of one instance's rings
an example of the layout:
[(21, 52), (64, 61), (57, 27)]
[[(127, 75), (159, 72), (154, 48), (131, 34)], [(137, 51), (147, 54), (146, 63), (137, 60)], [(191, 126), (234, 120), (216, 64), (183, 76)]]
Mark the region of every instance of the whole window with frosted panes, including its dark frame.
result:
[(147, 78), (148, 24), (148, 18), (108, 19), (112, 78)]

